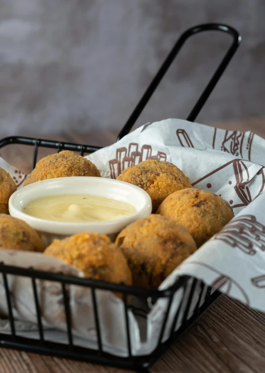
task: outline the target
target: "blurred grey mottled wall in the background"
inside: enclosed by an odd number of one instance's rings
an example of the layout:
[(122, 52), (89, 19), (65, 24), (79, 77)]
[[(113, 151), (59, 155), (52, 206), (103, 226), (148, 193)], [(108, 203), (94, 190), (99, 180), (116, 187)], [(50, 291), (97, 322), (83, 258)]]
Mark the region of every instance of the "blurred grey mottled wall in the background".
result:
[[(243, 41), (198, 121), (265, 114), (264, 0), (0, 0), (0, 135), (120, 127), (186, 28)], [(138, 121), (185, 118), (230, 38), (197, 35)]]

